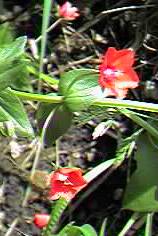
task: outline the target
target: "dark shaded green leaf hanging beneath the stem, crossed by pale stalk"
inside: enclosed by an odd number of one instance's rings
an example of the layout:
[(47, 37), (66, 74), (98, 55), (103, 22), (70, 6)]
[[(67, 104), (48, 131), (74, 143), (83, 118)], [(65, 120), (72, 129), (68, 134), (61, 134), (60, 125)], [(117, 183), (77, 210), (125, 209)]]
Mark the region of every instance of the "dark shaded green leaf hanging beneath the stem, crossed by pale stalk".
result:
[(65, 106), (42, 103), (38, 109), (37, 120), (43, 143), (47, 147), (52, 146), (70, 128), (72, 118), (73, 113)]

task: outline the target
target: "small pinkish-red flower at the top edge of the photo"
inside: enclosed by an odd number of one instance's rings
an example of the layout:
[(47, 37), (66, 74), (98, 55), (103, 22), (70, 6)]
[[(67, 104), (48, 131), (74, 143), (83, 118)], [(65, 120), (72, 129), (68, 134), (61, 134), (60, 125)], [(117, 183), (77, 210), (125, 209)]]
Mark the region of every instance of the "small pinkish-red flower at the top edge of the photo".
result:
[(72, 7), (70, 2), (65, 2), (62, 6), (59, 6), (59, 16), (66, 20), (75, 20), (79, 16), (77, 7)]

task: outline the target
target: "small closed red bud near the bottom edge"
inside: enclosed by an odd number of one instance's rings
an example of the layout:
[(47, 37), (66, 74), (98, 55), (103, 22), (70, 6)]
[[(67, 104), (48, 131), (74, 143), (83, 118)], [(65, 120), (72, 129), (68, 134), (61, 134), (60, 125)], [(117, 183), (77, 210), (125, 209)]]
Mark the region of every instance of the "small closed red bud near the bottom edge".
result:
[(45, 227), (49, 222), (50, 216), (48, 214), (35, 214), (33, 222), (38, 228)]

